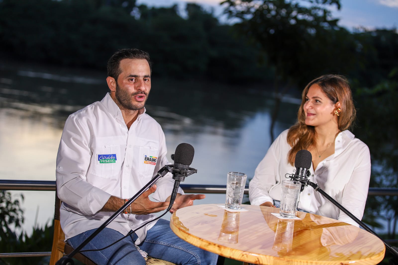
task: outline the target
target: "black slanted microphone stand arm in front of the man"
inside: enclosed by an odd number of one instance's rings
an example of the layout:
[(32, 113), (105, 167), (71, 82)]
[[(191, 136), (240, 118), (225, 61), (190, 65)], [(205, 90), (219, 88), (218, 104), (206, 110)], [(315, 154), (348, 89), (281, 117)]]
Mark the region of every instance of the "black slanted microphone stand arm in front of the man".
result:
[(131, 203), (133, 203), (135, 200), (137, 200), (138, 197), (144, 191), (146, 191), (150, 186), (152, 186), (158, 179), (161, 177), (164, 177), (166, 173), (168, 173), (168, 168), (170, 168), (172, 165), (166, 165), (164, 166), (161, 170), (158, 171), (158, 173), (153, 177), (142, 189), (140, 189), (129, 201), (127, 201), (119, 210), (117, 210), (114, 214), (112, 214), (111, 217), (109, 217), (99, 228), (97, 228), (94, 233), (92, 233), (86, 240), (84, 240), (79, 246), (77, 246), (72, 252), (70, 252), (68, 255), (62, 257), (55, 263), (55, 265), (74, 265), (74, 261), (72, 257), (80, 251), (90, 240), (92, 240), (98, 233), (100, 233), (110, 222), (113, 221), (119, 214), (121, 214), (127, 206), (129, 206)]

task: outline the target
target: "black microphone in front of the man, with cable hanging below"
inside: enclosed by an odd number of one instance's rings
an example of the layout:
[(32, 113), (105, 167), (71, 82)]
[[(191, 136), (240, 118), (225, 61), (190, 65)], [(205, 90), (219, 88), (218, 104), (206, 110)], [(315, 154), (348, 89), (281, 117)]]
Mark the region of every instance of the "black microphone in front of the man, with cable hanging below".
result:
[(194, 153), (195, 150), (193, 149), (193, 146), (187, 143), (181, 143), (176, 147), (175, 154), (172, 155), (174, 164), (165, 166), (173, 174), (173, 179), (175, 180), (172, 195), (170, 197), (170, 205), (167, 208), (167, 211), (169, 211), (173, 206), (180, 181), (184, 181), (185, 177), (197, 172), (194, 168), (189, 168), (189, 165), (192, 163)]

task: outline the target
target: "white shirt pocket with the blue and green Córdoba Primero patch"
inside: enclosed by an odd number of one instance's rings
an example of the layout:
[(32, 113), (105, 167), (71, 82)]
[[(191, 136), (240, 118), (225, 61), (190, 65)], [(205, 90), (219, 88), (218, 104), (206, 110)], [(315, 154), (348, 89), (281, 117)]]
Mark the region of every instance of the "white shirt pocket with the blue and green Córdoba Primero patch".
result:
[(109, 179), (120, 173), (121, 154), (119, 145), (103, 145), (92, 148), (92, 157), (88, 172)]

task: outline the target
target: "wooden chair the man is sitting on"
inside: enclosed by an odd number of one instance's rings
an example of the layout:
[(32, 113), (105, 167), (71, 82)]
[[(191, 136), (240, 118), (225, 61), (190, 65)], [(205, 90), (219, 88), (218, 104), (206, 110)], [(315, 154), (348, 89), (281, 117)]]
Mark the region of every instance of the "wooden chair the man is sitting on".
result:
[[(58, 198), (57, 191), (55, 191), (55, 210), (54, 210), (54, 238), (53, 247), (51, 248), (51, 258), (50, 265), (55, 265), (55, 263), (64, 255), (67, 255), (73, 251), (73, 247), (68, 243), (65, 243), (65, 234), (61, 229), (61, 224), (59, 221), (59, 208), (61, 207), (61, 200)], [(83, 255), (82, 253), (77, 253), (73, 256), (78, 261), (86, 265), (96, 265), (91, 259)], [(153, 257), (146, 258), (147, 265), (175, 265), (174, 263), (164, 261), (162, 259), (155, 259)]]

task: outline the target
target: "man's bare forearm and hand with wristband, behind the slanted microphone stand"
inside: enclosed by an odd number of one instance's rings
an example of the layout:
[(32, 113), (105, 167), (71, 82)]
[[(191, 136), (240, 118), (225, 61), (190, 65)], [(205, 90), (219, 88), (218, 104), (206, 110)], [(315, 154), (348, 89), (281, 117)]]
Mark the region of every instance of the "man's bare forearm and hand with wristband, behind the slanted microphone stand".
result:
[[(162, 210), (166, 210), (166, 208), (169, 206), (168, 202), (154, 202), (151, 201), (148, 196), (151, 193), (154, 193), (156, 191), (156, 185), (153, 185), (150, 187), (148, 190), (144, 191), (140, 197), (138, 197), (133, 203), (131, 203), (131, 212), (130, 212), (130, 206), (127, 206), (126, 210), (128, 213), (132, 214), (150, 214), (154, 212), (160, 212)], [(111, 196), (107, 203), (105, 203), (104, 207), (101, 209), (101, 211), (105, 212), (115, 212), (117, 211), (120, 207), (122, 207), (125, 204), (125, 200)]]

